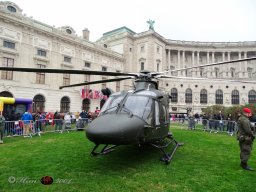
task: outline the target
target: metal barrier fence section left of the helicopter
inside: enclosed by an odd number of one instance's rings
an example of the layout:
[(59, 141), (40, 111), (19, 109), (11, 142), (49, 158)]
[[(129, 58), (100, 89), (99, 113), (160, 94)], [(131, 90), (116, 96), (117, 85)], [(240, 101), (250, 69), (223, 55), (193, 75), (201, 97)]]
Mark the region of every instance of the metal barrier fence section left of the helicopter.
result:
[(5, 121), (2, 127), (3, 137), (39, 135), (45, 132), (60, 132), (72, 130), (84, 130), (91, 119), (52, 119), (36, 121)]

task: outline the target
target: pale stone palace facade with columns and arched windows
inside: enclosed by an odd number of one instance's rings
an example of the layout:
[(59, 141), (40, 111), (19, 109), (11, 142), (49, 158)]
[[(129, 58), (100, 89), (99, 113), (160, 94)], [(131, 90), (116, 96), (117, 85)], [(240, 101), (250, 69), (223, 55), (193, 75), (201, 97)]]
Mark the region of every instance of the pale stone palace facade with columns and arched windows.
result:
[[(111, 72), (165, 71), (213, 62), (256, 56), (256, 42), (195, 42), (170, 40), (152, 26), (142, 33), (121, 27), (89, 41), (89, 30), (78, 37), (70, 26), (55, 28), (22, 14), (14, 3), (0, 2), (0, 64), (8, 67), (37, 67), (100, 70)], [(196, 68), (168, 75), (232, 80), (255, 80), (256, 61)], [(111, 77), (1, 72), (0, 96), (33, 99), (33, 110), (94, 111), (105, 87), (113, 91), (132, 89), (132, 81), (114, 82), (59, 90), (59, 86)], [(256, 103), (253, 83), (211, 80), (163, 79), (160, 89), (172, 95), (170, 112), (201, 112), (209, 105)], [(82, 93), (82, 94), (81, 94)]]

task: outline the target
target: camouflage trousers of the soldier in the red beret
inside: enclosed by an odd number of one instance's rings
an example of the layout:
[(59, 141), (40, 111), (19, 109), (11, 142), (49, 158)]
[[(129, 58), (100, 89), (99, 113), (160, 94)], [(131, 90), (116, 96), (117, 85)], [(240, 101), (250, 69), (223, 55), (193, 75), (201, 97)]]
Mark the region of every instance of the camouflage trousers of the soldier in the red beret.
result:
[(240, 160), (241, 164), (247, 165), (252, 151), (253, 140), (249, 136), (245, 136), (243, 140), (239, 140)]

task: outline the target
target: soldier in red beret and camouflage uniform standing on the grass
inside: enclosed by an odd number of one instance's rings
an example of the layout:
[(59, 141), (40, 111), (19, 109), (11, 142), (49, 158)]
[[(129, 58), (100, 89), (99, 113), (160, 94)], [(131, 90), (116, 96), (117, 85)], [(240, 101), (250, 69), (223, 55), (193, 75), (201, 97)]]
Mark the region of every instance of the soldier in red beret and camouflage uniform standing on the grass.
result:
[(237, 121), (237, 139), (239, 141), (240, 146), (240, 165), (245, 170), (253, 171), (253, 169), (247, 164), (252, 151), (252, 145), (254, 140), (252, 125), (249, 121), (250, 115), (251, 110), (249, 108), (244, 108), (243, 115), (241, 115)]

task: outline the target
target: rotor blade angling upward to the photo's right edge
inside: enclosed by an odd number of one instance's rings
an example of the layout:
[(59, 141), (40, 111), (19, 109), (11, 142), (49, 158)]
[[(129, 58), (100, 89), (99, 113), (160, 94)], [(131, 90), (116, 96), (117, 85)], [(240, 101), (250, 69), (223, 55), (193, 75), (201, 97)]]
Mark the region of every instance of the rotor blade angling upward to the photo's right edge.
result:
[(168, 72), (183, 71), (183, 70), (194, 69), (194, 68), (210, 67), (210, 66), (223, 65), (223, 64), (228, 64), (228, 63), (237, 63), (237, 62), (242, 62), (242, 61), (251, 61), (251, 60), (255, 60), (255, 59), (256, 59), (256, 57), (250, 57), (250, 58), (245, 58), (245, 59), (221, 61), (221, 62), (217, 62), (217, 63), (209, 63), (209, 64), (198, 65), (198, 66), (193, 66), (193, 67), (185, 67), (185, 68), (180, 68), (180, 69), (167, 70), (167, 71), (164, 71), (164, 72), (156, 72), (153, 75), (156, 76), (158, 74), (160, 75), (160, 74), (165, 74), (165, 73), (168, 73)]

